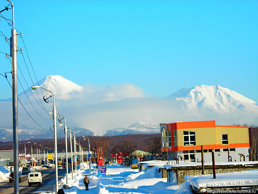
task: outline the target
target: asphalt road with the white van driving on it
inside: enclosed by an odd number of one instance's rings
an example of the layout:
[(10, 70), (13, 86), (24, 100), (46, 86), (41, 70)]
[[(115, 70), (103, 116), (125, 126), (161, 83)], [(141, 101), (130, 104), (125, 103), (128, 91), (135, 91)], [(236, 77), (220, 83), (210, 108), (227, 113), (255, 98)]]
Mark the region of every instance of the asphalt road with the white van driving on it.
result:
[[(43, 169), (43, 168), (42, 168)], [(68, 173), (71, 172), (71, 168), (68, 168)], [(32, 185), (28, 186), (28, 175), (21, 175), (21, 182), (19, 183), (19, 193), (41, 193), (50, 192), (55, 187), (55, 169), (44, 168), (43, 170), (37, 170), (42, 173), (42, 186)], [(58, 181), (66, 174), (66, 169), (58, 170)], [(14, 193), (14, 183), (9, 183), (9, 180), (0, 183), (0, 194)]]

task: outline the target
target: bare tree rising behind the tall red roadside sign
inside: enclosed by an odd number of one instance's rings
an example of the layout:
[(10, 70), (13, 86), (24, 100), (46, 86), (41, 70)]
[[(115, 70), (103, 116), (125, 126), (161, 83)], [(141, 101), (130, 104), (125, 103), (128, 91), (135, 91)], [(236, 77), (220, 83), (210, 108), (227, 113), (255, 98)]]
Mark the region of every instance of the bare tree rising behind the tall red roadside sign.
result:
[[(110, 141), (106, 137), (99, 137), (95, 136), (91, 138), (92, 145), (91, 151), (93, 153), (93, 156), (96, 160), (96, 168), (99, 166), (100, 159), (105, 156), (107, 153), (107, 150), (109, 149)], [(101, 147), (102, 147), (102, 153), (101, 153)]]

